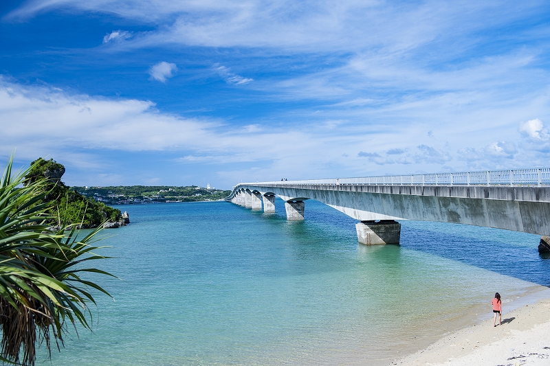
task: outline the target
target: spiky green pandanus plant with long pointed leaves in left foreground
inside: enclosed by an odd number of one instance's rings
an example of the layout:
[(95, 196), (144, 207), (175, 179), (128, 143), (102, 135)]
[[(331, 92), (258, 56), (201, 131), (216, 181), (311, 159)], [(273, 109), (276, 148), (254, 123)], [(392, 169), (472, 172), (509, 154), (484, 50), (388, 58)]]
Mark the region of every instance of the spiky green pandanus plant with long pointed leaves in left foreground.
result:
[(0, 360), (32, 366), (37, 345), (49, 354), (52, 339), (58, 350), (63, 346), (69, 323), (91, 330), (90, 288), (109, 293), (80, 275), (111, 274), (84, 268), (106, 258), (93, 253), (101, 226), (84, 235), (47, 214), (54, 203), (45, 202), (45, 179), (25, 181), (32, 167), (12, 174), (12, 162), (10, 157), (0, 179)]

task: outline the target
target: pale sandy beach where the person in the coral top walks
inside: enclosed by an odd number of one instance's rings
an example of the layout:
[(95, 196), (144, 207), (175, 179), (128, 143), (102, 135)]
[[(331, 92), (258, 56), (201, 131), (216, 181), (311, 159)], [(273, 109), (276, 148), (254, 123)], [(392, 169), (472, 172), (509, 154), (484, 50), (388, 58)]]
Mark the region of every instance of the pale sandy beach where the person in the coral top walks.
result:
[[(490, 305), (487, 305), (487, 309)], [(497, 318), (498, 321), (498, 318)], [(503, 324), (493, 326), (483, 312), (465, 328), (452, 330), (417, 352), (388, 365), (548, 365), (550, 363), (550, 288), (503, 303)]]

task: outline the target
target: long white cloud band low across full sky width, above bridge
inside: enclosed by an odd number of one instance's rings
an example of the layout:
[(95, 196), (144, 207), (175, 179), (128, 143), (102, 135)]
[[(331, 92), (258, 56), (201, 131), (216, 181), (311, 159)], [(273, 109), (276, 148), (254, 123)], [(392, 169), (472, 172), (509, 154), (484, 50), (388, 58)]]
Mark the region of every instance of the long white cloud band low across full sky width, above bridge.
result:
[[(417, 119), (411, 120), (411, 111), (417, 110), (402, 109), (408, 123), (392, 128), (375, 115), (364, 126), (346, 123), (332, 129), (316, 120), (291, 127), (270, 124), (267, 128), (262, 122), (236, 126), (220, 119), (162, 113), (149, 101), (75, 95), (56, 88), (23, 86), (0, 76), (0, 146), (5, 149), (0, 155), (17, 147), (19, 159), (63, 156), (74, 166), (97, 169), (105, 165), (105, 155), (162, 151), (175, 163), (227, 165), (227, 172), (218, 172), (224, 176), (223, 184), (216, 183), (225, 187), (241, 180), (281, 176), (316, 179), (547, 165), (550, 157), (550, 150), (539, 142), (520, 143), (519, 119), (504, 129), (502, 125), (487, 127), (500, 118), (494, 115), (492, 119), (475, 113), (475, 118), (454, 116), (456, 130), (434, 125), (434, 135), (441, 139), (434, 141), (426, 136), (428, 128), (423, 125), (429, 115), (415, 112)], [(395, 110), (380, 113), (398, 119)], [(468, 119), (488, 122), (459, 123)], [(445, 126), (454, 126), (452, 122), (446, 120)], [(119, 164), (112, 164), (111, 173), (118, 172)], [(252, 165), (260, 168), (236, 168)]]

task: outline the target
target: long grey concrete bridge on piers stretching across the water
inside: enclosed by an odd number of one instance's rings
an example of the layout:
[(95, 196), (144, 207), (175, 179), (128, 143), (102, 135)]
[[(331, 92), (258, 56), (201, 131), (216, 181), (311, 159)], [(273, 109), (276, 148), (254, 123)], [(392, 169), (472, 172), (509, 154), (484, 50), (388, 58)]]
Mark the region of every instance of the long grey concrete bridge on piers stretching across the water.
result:
[(239, 183), (225, 200), (270, 213), (276, 196), (287, 220), (308, 199), (355, 218), (362, 244), (399, 244), (399, 220), (419, 220), (534, 233), (550, 251), (550, 168)]

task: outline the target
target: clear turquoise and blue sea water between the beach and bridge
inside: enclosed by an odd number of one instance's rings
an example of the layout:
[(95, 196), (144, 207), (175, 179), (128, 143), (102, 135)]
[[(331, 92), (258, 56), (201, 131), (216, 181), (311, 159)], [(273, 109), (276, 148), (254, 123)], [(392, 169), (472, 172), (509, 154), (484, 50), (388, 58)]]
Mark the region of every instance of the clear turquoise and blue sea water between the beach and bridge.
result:
[(96, 262), (94, 332), (38, 365), (388, 365), (550, 285), (538, 236), (401, 222), (401, 245), (358, 244), (355, 220), (316, 201), (305, 220), (225, 202), (129, 205)]

